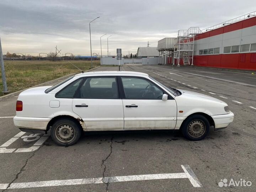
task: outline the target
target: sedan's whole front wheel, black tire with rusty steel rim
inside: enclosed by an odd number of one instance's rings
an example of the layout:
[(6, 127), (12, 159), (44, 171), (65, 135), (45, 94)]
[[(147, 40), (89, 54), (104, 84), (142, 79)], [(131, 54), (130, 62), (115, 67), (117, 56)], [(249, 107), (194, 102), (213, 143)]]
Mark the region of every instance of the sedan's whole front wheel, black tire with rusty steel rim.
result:
[(204, 139), (210, 129), (210, 123), (206, 117), (195, 114), (183, 122), (181, 132), (185, 138), (192, 141)]

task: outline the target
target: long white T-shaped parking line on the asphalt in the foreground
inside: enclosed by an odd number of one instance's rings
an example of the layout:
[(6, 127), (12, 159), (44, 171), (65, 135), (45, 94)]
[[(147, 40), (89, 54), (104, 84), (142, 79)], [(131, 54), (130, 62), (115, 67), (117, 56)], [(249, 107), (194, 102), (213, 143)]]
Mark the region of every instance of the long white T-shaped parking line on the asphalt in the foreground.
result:
[[(127, 181), (146, 181), (146, 180), (159, 180), (159, 179), (172, 179), (172, 178), (188, 178), (193, 187), (202, 187), (198, 178), (192, 171), (189, 165), (181, 165), (184, 172), (171, 173), (171, 174), (150, 174), (150, 175), (127, 175), (116, 177), (96, 177), (96, 178), (82, 178), (82, 179), (69, 179), (69, 180), (52, 180), (52, 181), (35, 181), (23, 183), (2, 183), (0, 184), (1, 190), (8, 189), (21, 189), (33, 187), (52, 187), (52, 186), (67, 186), (67, 185), (86, 185), (98, 183), (114, 183), (114, 182), (127, 182)], [(9, 186), (9, 187), (8, 187)]]

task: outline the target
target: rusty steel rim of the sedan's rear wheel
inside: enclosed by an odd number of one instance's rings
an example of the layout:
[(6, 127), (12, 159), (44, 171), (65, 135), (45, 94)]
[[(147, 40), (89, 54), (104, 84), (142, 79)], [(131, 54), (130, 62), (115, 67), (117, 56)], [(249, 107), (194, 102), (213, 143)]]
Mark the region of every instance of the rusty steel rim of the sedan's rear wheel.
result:
[(55, 136), (62, 143), (71, 142), (75, 138), (75, 129), (70, 124), (61, 124), (57, 127)]

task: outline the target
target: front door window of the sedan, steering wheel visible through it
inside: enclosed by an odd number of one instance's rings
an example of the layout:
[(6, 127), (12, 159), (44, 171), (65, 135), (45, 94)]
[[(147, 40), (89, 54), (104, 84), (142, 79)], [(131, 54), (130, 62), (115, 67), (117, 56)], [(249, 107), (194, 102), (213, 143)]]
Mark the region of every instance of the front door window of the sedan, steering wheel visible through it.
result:
[(127, 99), (162, 99), (163, 91), (148, 80), (132, 77), (121, 79)]

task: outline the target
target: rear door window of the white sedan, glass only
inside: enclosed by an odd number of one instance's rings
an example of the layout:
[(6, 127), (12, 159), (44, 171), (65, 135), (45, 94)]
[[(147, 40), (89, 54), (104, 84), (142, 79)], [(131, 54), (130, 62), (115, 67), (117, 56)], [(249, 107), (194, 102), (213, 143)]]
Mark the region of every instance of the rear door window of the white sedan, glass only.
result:
[(117, 99), (118, 89), (115, 77), (86, 78), (77, 98)]

